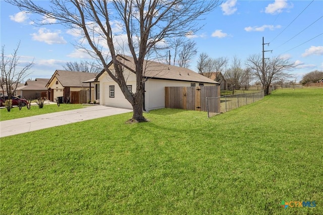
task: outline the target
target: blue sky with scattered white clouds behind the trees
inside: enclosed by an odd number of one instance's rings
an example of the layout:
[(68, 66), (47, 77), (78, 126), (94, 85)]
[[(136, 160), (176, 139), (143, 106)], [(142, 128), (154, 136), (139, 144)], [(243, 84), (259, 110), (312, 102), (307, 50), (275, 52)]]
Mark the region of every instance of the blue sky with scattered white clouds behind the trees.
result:
[[(42, 3), (45, 3), (43, 1)], [(21, 65), (34, 59), (29, 78), (50, 78), (66, 62), (91, 60), (72, 43), (76, 37), (63, 26), (34, 26), (34, 15), (1, 1), (1, 46), (9, 55), (20, 41)], [(308, 72), (323, 71), (323, 1), (223, 1), (200, 21), (204, 27), (191, 36), (198, 53), (190, 63), (197, 71), (201, 52), (212, 58), (237, 56), (244, 68), (245, 60), (261, 54), (264, 37), (266, 58), (282, 56), (297, 65), (291, 73), (297, 81)]]

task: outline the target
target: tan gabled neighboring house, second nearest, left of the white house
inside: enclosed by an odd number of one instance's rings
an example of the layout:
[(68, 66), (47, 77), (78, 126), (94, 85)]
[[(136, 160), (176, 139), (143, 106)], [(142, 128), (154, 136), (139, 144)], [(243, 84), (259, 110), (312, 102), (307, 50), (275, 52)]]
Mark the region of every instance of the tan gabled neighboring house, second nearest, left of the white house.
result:
[(89, 83), (83, 82), (95, 78), (97, 74), (56, 70), (46, 84), (49, 100), (55, 101), (54, 99), (57, 97), (69, 99), (72, 91), (88, 90), (91, 94), (91, 91), (94, 92), (94, 87), (90, 87)]

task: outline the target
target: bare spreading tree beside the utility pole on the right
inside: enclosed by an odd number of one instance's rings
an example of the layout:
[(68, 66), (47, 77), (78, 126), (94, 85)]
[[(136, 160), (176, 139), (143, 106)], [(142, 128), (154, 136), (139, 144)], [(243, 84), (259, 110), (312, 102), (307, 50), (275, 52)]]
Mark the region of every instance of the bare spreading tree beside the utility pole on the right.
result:
[(250, 74), (261, 82), (265, 95), (270, 93), (270, 86), (273, 82), (293, 77), (287, 71), (295, 67), (288, 59), (273, 57), (265, 60), (264, 70), (262, 70), (260, 55), (250, 56), (246, 61), (246, 66), (250, 69)]

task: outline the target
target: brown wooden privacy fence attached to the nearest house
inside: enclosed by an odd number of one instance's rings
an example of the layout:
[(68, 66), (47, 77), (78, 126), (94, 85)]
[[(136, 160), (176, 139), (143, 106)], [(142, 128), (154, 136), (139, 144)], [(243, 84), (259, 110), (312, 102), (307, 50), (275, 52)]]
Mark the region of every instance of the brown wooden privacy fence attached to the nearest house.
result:
[(208, 107), (219, 113), (220, 86), (165, 87), (165, 108), (207, 111), (206, 97), (219, 97)]

